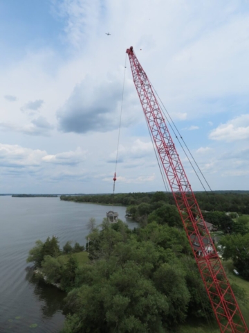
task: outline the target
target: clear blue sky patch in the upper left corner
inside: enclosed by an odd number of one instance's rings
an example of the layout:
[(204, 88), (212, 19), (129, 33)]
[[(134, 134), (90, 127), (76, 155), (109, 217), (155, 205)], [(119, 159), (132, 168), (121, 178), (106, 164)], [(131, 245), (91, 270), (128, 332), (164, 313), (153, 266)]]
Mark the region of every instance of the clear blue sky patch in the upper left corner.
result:
[[(6, 64), (25, 57), (28, 49), (53, 47), (63, 50), (59, 35), (63, 21), (53, 15), (50, 0), (8, 0), (0, 2), (1, 61)], [(8, 57), (6, 57), (8, 53)]]

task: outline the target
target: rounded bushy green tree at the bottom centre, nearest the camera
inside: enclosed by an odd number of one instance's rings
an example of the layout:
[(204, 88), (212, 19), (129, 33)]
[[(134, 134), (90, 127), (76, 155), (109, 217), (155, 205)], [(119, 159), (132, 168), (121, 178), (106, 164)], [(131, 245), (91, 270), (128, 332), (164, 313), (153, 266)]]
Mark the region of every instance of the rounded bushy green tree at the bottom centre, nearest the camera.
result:
[(94, 284), (84, 284), (68, 294), (68, 303), (77, 313), (77, 317), (67, 319), (71, 332), (163, 332), (167, 297), (142, 276), (139, 265), (127, 262), (109, 279), (101, 271), (95, 275), (98, 279)]

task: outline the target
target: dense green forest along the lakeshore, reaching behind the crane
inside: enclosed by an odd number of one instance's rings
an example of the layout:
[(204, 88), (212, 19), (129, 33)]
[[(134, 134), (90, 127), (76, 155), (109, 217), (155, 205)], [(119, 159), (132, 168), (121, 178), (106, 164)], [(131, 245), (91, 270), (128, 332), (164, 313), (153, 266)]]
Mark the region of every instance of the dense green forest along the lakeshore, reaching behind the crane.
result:
[[(222, 205), (225, 194), (215, 196)], [(107, 219), (96, 225), (91, 219), (86, 250), (77, 244), (77, 253), (68, 243), (60, 250), (56, 237), (53, 246), (48, 239), (46, 246), (37, 241), (30, 250), (28, 262), (39, 267), (48, 283), (68, 293), (66, 304), (71, 314), (63, 333), (194, 332), (183, 328), (190, 322), (202, 323), (203, 328), (198, 326), (196, 332), (219, 332), (172, 197), (163, 192), (118, 194), (116, 204), (124, 205), (131, 197), (127, 213), (140, 222), (140, 228), (130, 230), (120, 220), (109, 223)], [(108, 203), (107, 195), (65, 198)], [(247, 200), (248, 194), (231, 194), (228, 203), (248, 207)], [(213, 201), (213, 207), (221, 206)], [(248, 321), (248, 216), (239, 210), (232, 216), (223, 210), (203, 213), (205, 220), (216, 225), (214, 234), (220, 237), (216, 246), (225, 270), (230, 266), (228, 277)], [(232, 275), (233, 268), (240, 278)]]

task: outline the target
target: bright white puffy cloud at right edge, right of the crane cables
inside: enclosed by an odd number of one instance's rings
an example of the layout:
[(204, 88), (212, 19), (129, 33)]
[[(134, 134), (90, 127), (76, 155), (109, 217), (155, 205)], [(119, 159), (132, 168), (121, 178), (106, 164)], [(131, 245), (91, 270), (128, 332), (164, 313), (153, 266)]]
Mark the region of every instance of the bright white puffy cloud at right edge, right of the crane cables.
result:
[(210, 139), (232, 142), (249, 138), (249, 114), (241, 116), (219, 125), (210, 133)]

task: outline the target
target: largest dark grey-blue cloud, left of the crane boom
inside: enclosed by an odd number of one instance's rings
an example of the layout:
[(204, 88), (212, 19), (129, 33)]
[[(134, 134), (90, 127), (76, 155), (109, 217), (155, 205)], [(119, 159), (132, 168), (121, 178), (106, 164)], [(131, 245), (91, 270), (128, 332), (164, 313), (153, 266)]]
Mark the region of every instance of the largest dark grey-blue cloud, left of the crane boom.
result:
[(58, 112), (59, 128), (64, 132), (105, 132), (118, 126), (118, 102), (121, 85), (116, 80), (87, 76), (75, 87)]

